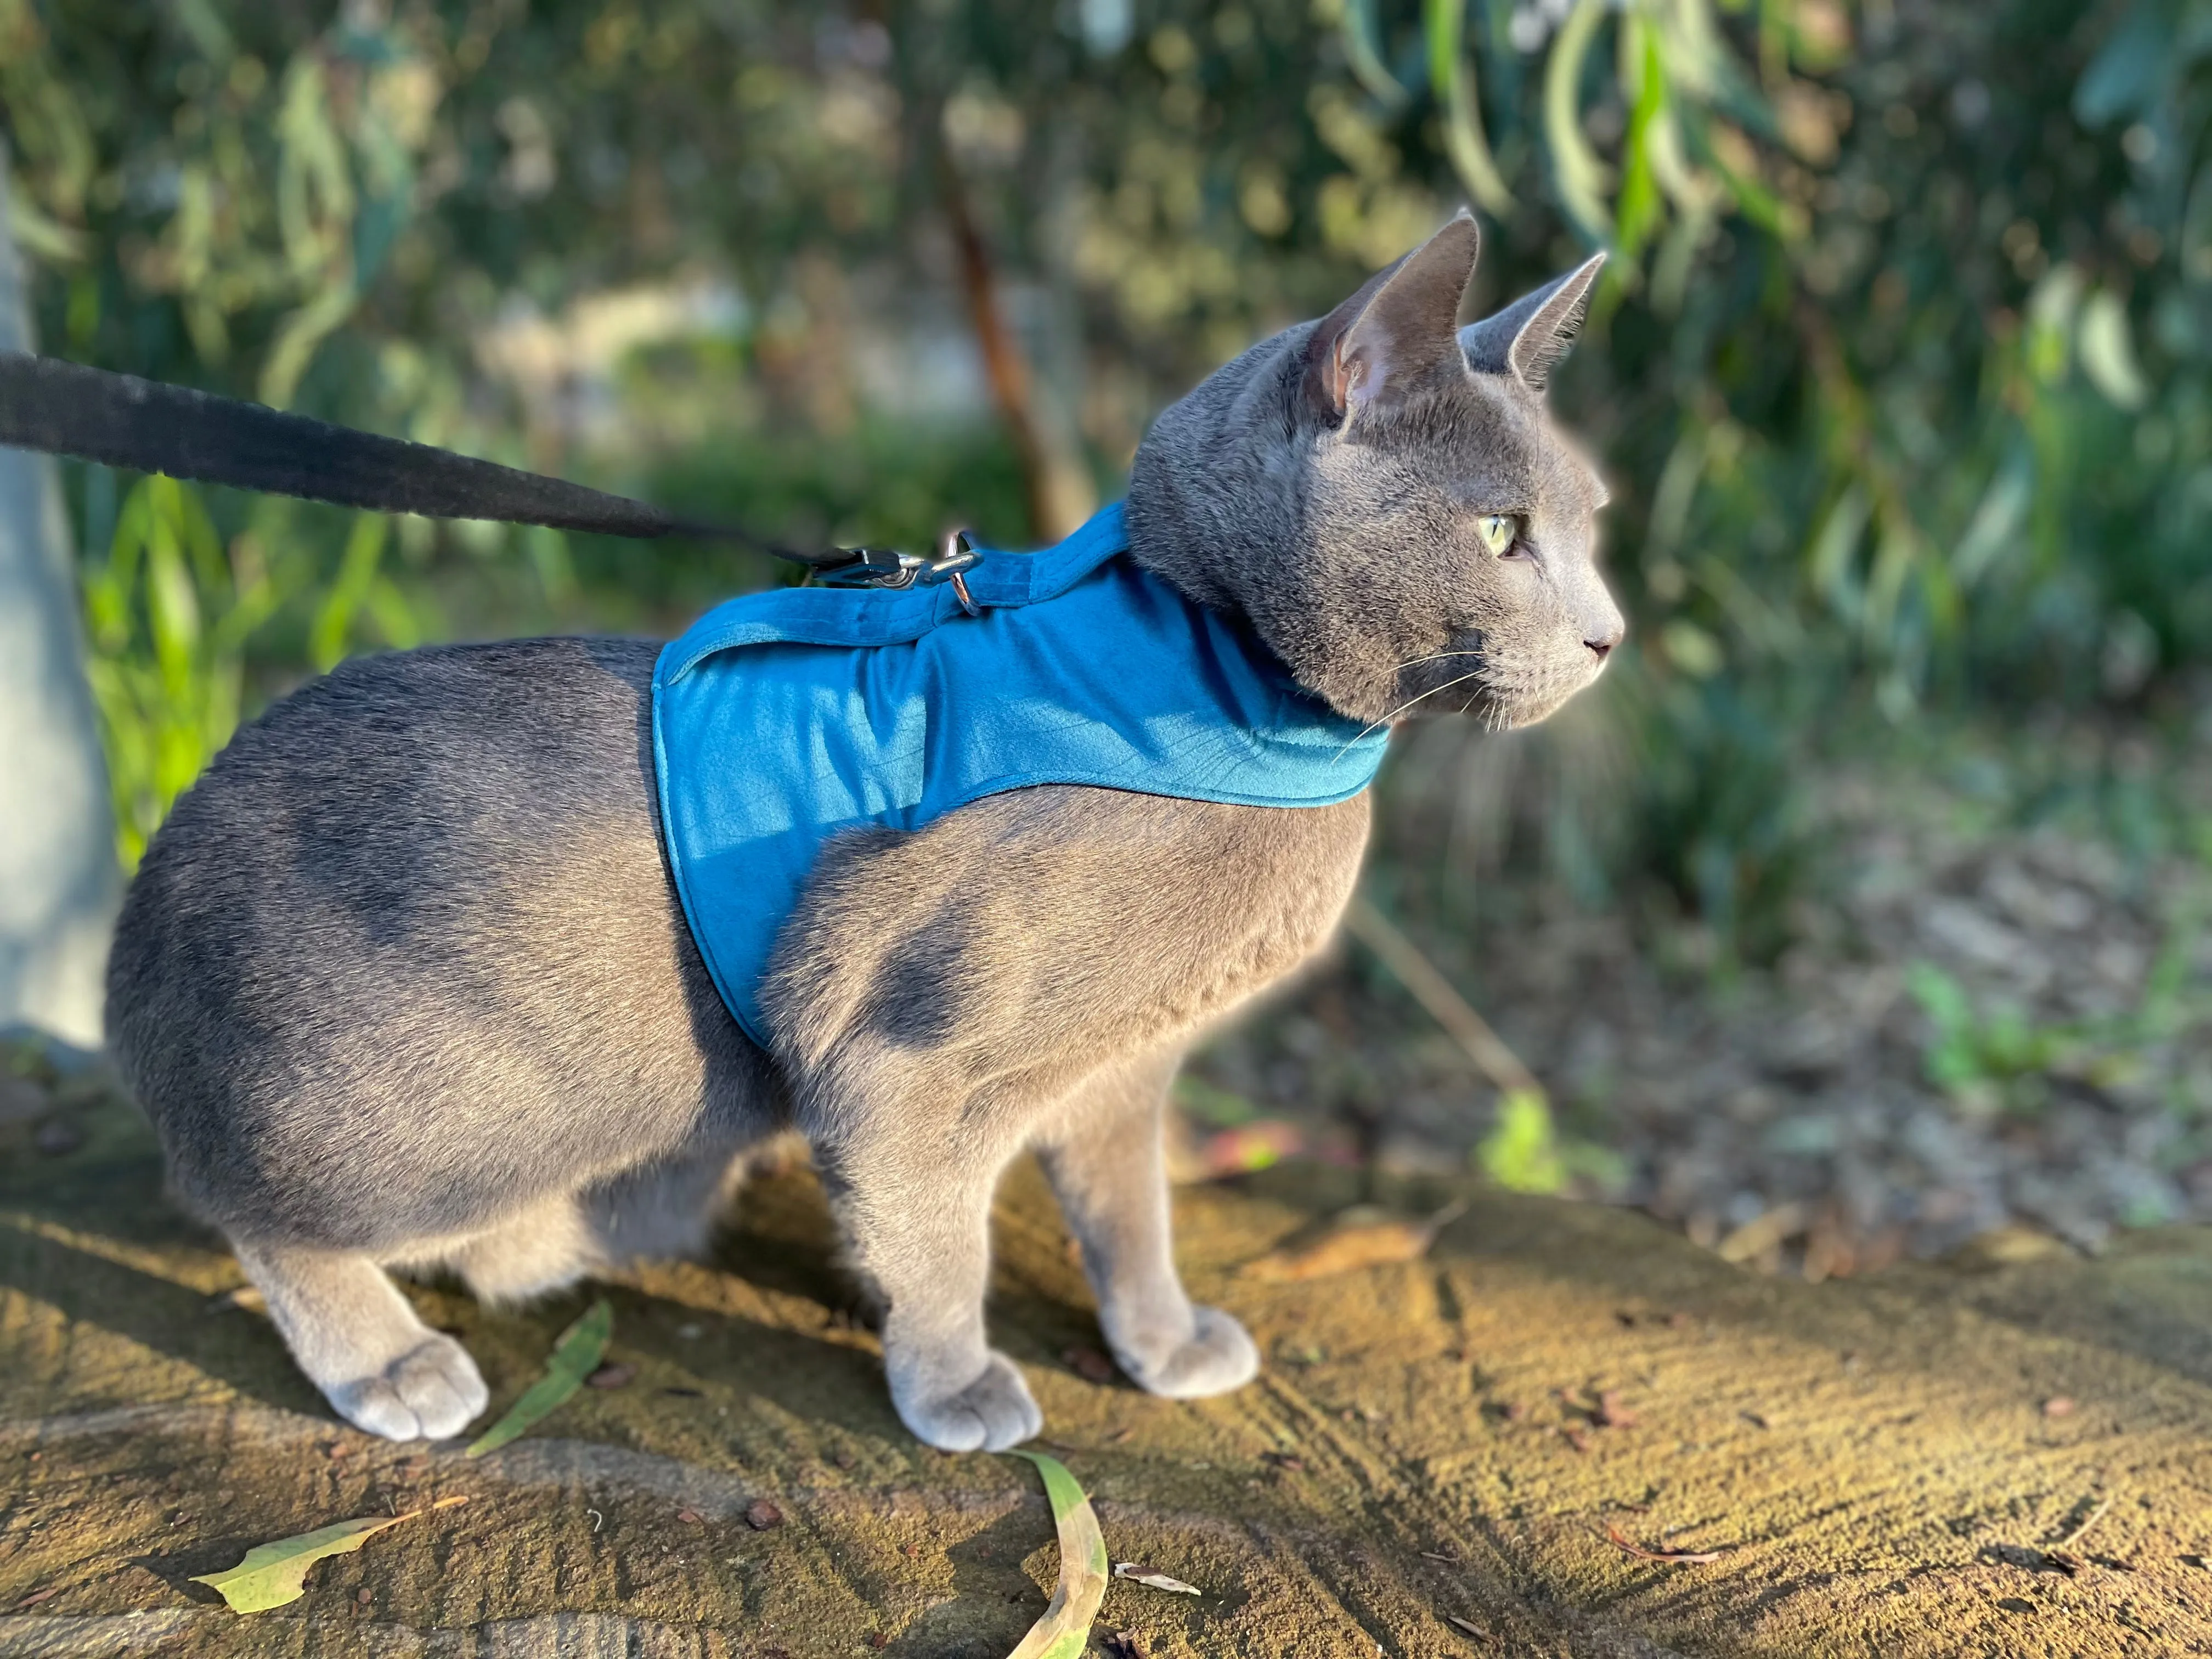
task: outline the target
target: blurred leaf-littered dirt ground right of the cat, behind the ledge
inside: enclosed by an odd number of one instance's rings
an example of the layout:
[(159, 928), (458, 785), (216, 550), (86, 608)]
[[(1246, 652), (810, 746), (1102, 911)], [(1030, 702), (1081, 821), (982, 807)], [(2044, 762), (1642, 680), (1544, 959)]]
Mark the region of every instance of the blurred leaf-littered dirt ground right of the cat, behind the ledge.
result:
[[(1509, 794), (1447, 761), (1409, 774)], [(1577, 1190), (1812, 1276), (2006, 1225), (2099, 1250), (2212, 1221), (2212, 717), (2181, 750), (2126, 726), (1931, 741), (1823, 772), (1805, 810), (1818, 874), (1770, 964), (1723, 971), (1701, 929), (1621, 902), (1480, 927), (1398, 907), (1599, 1152)], [(1356, 945), (1194, 1068), (1400, 1172), (1469, 1168), (1493, 1121)]]

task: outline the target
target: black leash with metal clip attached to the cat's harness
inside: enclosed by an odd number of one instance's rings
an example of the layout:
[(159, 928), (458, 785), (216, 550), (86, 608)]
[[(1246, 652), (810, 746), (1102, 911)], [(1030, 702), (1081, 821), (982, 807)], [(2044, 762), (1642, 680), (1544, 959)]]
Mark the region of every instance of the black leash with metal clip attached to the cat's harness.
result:
[(814, 580), (834, 586), (911, 588), (916, 582), (951, 582), (962, 604), (969, 599), (960, 577), (982, 562), (964, 531), (947, 535), (933, 560), (874, 546), (801, 553), (737, 524), (675, 518), (628, 495), (456, 456), (451, 449), (378, 438), (259, 403), (29, 352), (0, 352), (0, 445), (372, 513), (491, 518), (639, 540), (692, 535), (741, 542), (805, 564)]

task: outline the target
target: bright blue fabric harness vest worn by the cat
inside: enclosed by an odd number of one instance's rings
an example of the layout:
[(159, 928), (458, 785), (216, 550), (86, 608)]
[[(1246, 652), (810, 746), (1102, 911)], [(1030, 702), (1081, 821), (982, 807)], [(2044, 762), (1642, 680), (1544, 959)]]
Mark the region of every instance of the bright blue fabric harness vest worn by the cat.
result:
[[(1321, 807), (1389, 734), (1305, 692), (1237, 617), (1124, 557), (1121, 507), (947, 586), (774, 588), (708, 611), (653, 672), (668, 867), (730, 1013), (759, 989), (823, 845), (920, 830), (1035, 783)], [(989, 880), (989, 872), (978, 872)]]

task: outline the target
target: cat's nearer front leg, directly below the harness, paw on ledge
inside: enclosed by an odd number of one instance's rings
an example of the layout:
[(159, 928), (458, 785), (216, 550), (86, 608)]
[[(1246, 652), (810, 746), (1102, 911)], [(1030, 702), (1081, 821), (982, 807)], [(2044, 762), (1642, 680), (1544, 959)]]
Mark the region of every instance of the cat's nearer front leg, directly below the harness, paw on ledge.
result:
[(984, 1340), (991, 1190), (1011, 1146), (969, 1124), (876, 1108), (814, 1157), (847, 1254), (883, 1303), (883, 1369), (900, 1420), (940, 1451), (1004, 1451), (1044, 1427), (1029, 1383)]

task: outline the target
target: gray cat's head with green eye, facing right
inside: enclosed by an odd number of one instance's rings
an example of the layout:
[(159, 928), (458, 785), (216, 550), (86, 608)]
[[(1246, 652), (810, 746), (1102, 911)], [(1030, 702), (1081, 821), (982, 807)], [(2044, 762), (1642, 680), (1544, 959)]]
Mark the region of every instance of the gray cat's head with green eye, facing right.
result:
[(1621, 639), (1595, 564), (1606, 487), (1544, 411), (1604, 257), (1462, 330), (1475, 246), (1462, 212), (1214, 372), (1130, 473), (1135, 555), (1360, 721), (1526, 726)]

